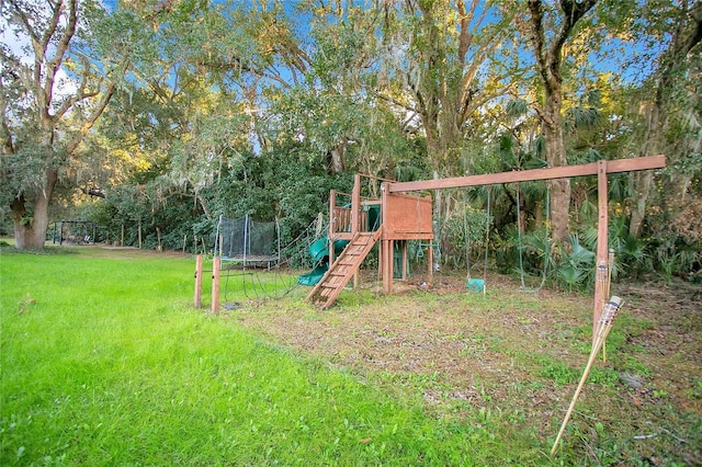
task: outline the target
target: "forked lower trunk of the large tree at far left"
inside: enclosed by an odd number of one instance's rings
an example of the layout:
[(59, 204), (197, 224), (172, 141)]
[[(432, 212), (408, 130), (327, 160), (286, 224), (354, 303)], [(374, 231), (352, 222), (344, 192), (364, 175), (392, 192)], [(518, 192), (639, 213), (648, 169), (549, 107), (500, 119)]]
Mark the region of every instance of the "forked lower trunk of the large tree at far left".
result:
[(58, 174), (55, 170), (47, 170), (46, 183), (43, 190), (38, 190), (34, 197), (31, 209), (27, 204), (32, 203), (24, 195), (20, 195), (12, 201), (10, 206), (12, 212), (12, 225), (14, 227), (15, 248), (43, 248), (48, 230), (48, 205)]

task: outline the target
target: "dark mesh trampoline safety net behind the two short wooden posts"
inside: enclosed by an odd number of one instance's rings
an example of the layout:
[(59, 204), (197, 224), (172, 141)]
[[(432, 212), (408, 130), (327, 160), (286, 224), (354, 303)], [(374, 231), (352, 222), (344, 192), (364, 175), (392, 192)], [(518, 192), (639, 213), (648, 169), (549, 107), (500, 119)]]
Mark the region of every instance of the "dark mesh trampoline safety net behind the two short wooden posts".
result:
[(260, 223), (249, 216), (238, 219), (219, 216), (214, 251), (223, 261), (270, 266), (280, 258), (278, 223)]

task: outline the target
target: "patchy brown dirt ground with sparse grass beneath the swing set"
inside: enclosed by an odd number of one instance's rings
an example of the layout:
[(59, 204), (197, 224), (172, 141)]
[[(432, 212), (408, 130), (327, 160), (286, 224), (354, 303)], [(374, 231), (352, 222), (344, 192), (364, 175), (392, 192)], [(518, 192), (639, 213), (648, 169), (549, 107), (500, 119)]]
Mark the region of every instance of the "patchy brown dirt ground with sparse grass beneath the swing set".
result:
[[(464, 275), (421, 282), (396, 282), (383, 296), (366, 273), (326, 311), (301, 305), (303, 289), (299, 300), (229, 316), (278, 344), (419, 395), (438, 417), (509, 412), (518, 430), (553, 440), (588, 361), (591, 296), (525, 293), (501, 275), (488, 276), (486, 296), (467, 292)], [(702, 287), (616, 283), (612, 293), (625, 303), (571, 423), (595, 437), (602, 426), (623, 436), (630, 445), (619, 447), (620, 459), (702, 464)], [(599, 464), (601, 454), (582, 443)]]

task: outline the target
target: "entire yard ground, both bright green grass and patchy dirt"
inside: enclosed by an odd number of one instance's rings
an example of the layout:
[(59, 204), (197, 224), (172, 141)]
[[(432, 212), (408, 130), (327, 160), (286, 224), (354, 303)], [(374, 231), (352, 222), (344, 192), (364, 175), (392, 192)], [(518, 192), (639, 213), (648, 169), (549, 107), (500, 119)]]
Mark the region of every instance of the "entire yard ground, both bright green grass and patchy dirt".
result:
[[(699, 309), (680, 318), (691, 341), (622, 317), (626, 331), (612, 332), (588, 386), (600, 396), (586, 390), (551, 458), (587, 361), (585, 297), (500, 287), (482, 301), (450, 287), (378, 297), (366, 287), (318, 311), (307, 289), (251, 300), (235, 277), (224, 301), (237, 307), (215, 316), (193, 308), (193, 273), (190, 257), (3, 247), (0, 464), (702, 459)], [(513, 312), (487, 319), (497, 306)], [(648, 339), (664, 331), (677, 342), (669, 358)], [(681, 369), (689, 375), (670, 376)]]

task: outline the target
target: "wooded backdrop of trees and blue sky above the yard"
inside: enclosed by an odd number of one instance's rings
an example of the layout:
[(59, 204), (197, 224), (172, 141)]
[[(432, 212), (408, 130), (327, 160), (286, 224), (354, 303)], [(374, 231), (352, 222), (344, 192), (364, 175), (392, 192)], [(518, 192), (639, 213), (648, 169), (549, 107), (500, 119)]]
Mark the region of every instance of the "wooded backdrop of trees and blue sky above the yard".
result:
[[(679, 217), (702, 210), (699, 1), (7, 0), (1, 18), (0, 198), (19, 248), (42, 246), (59, 209), (178, 248), (219, 214), (278, 216), (293, 236), (353, 172), (655, 153), (665, 173), (610, 186), (621, 241), (699, 246)], [(495, 190), (495, 227), (523, 208), (566, 254), (591, 231), (593, 186)], [(438, 218), (458, 198), (434, 193)]]

